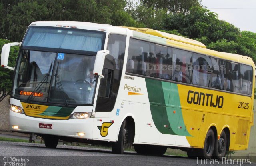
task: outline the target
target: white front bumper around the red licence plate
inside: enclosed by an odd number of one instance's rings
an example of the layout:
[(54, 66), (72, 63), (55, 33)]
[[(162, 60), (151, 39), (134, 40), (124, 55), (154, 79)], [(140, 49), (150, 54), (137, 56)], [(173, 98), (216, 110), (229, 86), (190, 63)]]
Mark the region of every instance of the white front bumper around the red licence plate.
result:
[[(11, 110), (9, 110), (9, 112), (11, 131), (50, 134), (92, 140), (93, 118), (52, 120), (34, 118)], [(39, 128), (39, 123), (52, 124), (52, 129)], [(19, 126), (19, 129), (14, 129), (12, 126)], [(84, 136), (78, 136), (78, 133), (84, 133)]]

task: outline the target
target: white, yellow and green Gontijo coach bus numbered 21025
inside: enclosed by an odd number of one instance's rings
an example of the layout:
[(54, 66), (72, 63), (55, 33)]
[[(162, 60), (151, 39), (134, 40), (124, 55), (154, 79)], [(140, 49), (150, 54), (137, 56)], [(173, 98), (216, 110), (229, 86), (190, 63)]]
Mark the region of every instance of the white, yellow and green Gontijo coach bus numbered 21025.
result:
[[(11, 46), (20, 46), (15, 68)], [(5, 44), (14, 70), (10, 130), (111, 144), (123, 154), (218, 158), (248, 148), (254, 125), (254, 62), (196, 40), (147, 28), (33, 22)]]

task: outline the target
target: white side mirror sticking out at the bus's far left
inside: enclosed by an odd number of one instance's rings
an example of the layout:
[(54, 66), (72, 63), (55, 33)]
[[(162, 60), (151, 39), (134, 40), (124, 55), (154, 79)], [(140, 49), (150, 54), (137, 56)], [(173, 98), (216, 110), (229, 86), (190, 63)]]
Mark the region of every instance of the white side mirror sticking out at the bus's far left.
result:
[(10, 48), (11, 46), (19, 46), (20, 43), (8, 43), (4, 44), (2, 48), (2, 53), (1, 53), (1, 66), (4, 68), (8, 68), (10, 70), (14, 70), (12, 67), (8, 67), (8, 59), (9, 59), (9, 54), (10, 54)]

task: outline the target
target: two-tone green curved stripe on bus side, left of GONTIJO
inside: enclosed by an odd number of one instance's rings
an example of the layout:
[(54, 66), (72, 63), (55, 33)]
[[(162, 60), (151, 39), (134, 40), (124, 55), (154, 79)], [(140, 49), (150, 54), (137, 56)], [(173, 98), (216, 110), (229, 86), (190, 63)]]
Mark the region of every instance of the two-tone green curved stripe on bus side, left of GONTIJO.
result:
[[(186, 130), (177, 84), (145, 78), (154, 124), (162, 134), (191, 136)], [(170, 107), (176, 106), (174, 107)]]

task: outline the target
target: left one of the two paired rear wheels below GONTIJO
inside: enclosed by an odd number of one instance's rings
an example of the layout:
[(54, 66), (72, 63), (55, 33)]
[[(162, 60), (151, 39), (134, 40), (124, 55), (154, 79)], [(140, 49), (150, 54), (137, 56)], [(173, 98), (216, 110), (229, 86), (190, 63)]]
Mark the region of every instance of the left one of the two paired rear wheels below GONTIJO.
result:
[(210, 159), (214, 152), (214, 143), (214, 132), (212, 131), (212, 129), (209, 129), (204, 140), (204, 148), (199, 150), (198, 157)]

